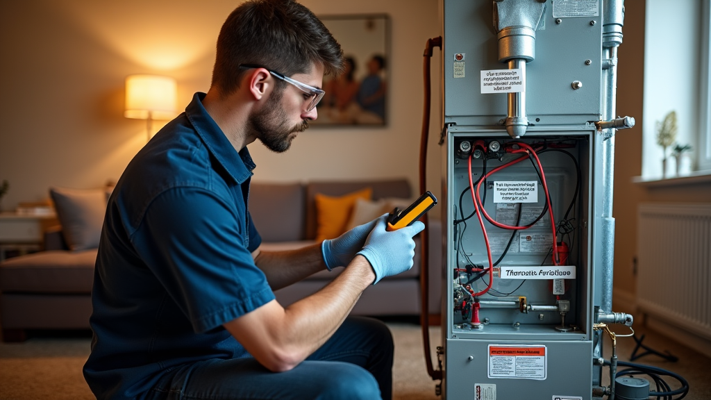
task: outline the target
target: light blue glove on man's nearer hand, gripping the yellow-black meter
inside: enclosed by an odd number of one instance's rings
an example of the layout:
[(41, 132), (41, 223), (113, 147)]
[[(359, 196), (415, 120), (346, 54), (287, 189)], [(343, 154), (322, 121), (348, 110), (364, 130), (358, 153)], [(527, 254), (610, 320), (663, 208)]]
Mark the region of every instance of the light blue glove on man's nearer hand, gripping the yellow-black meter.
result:
[(412, 258), (415, 257), (415, 241), (412, 236), (424, 229), (424, 223), (415, 221), (410, 226), (388, 232), (385, 231), (386, 219), (387, 216), (382, 216), (377, 220), (378, 223), (365, 240), (363, 250), (358, 251), (358, 254), (368, 259), (375, 271), (373, 285), (386, 276), (397, 275), (412, 268)]

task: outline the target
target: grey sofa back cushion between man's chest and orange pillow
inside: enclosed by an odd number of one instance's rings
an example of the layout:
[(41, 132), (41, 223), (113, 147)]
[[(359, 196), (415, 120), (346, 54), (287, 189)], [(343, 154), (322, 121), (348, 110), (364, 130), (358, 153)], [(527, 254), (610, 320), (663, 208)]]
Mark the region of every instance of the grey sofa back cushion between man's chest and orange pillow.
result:
[(249, 201), (250, 215), (263, 242), (304, 240), (303, 185), (252, 182)]

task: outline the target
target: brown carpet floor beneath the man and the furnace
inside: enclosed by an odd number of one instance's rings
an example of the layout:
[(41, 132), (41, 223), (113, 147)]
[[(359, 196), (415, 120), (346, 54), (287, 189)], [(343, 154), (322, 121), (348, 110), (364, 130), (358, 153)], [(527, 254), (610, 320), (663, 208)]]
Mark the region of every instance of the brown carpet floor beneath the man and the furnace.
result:
[[(388, 322), (388, 326), (395, 338), (394, 399), (439, 399), (434, 394), (435, 382), (425, 368), (419, 325)], [(440, 343), (439, 327), (432, 327), (430, 332), (434, 354)], [(642, 334), (646, 334), (643, 343), (648, 347), (659, 352), (668, 351), (679, 360), (668, 362), (649, 354), (636, 362), (668, 369), (685, 377), (690, 385), (685, 399), (711, 399), (711, 376), (708, 373), (711, 359), (654, 331), (640, 328), (638, 337)], [(0, 343), (0, 400), (94, 399), (81, 372), (89, 347), (90, 338), (85, 334), (37, 335), (23, 343)], [(619, 359), (629, 360), (634, 347), (631, 338), (618, 339)], [(436, 363), (436, 358), (432, 359)], [(673, 379), (667, 381), (675, 387)]]

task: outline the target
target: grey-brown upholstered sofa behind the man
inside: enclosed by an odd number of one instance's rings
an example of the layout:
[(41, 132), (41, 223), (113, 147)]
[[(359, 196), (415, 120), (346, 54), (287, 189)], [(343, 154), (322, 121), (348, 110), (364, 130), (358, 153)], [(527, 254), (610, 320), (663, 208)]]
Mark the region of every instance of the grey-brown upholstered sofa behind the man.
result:
[[(412, 193), (405, 179), (380, 181), (313, 181), (309, 183), (252, 182), (249, 207), (252, 219), (262, 236), (264, 251), (277, 251), (317, 243), (322, 233), (323, 201), (341, 201), (353, 191), (368, 189), (371, 199), (359, 199), (346, 214), (368, 209), (371, 215), (410, 201)], [(390, 200), (388, 202), (387, 200)], [(363, 207), (356, 209), (360, 204)], [(367, 204), (367, 207), (365, 205)], [(58, 204), (55, 204), (58, 206)], [(62, 213), (59, 220), (64, 224)], [(331, 210), (333, 211), (333, 210)], [(367, 214), (367, 213), (366, 213)], [(370, 216), (360, 212), (360, 218)], [(380, 214), (378, 214), (380, 215)], [(351, 218), (349, 223), (353, 223)], [(430, 246), (428, 310), (432, 315), (440, 310), (442, 250), (439, 247), (441, 226), (429, 219)], [(91, 289), (97, 248), (69, 250), (64, 226), (45, 234), (44, 251), (10, 258), (0, 263), (0, 326), (6, 341), (24, 340), (26, 330), (85, 329), (91, 315)], [(405, 273), (381, 280), (370, 286), (352, 310), (354, 315), (409, 315), (420, 313), (419, 238), (415, 265)], [(93, 243), (93, 242), (92, 242)], [(97, 243), (97, 241), (96, 241)], [(282, 305), (316, 292), (343, 268), (324, 270), (295, 283), (275, 295)]]

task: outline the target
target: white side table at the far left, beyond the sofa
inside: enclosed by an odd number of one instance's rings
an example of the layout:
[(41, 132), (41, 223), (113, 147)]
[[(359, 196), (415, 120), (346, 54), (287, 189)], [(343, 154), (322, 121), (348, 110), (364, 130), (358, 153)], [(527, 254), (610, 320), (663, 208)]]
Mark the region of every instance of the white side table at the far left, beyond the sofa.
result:
[(41, 251), (44, 232), (58, 225), (57, 216), (0, 213), (0, 261)]

